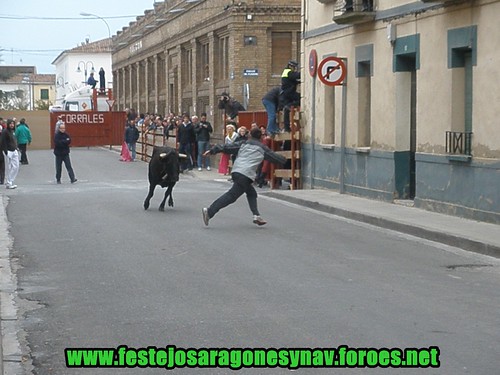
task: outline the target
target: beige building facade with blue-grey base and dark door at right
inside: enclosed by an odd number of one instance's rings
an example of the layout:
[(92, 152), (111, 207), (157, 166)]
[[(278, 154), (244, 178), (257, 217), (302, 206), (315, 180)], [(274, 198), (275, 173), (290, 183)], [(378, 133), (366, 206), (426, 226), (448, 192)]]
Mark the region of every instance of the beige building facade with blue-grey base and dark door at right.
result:
[[(302, 7), (304, 186), (500, 223), (500, 1)], [(343, 86), (308, 74), (313, 50)]]

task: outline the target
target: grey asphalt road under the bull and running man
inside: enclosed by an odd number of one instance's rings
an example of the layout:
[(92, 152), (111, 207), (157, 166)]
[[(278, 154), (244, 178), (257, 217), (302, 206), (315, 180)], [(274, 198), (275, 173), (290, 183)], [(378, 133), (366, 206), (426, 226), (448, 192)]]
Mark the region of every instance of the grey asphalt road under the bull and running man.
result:
[(78, 183), (63, 175), (63, 184), (54, 184), (53, 155), (33, 151), (19, 189), (5, 193), (19, 336), (32, 373), (165, 373), (65, 366), (67, 347), (120, 345), (437, 346), (436, 369), (296, 372), (500, 373), (499, 260), (262, 195), (268, 225), (252, 224), (242, 197), (205, 227), (201, 208), (230, 186), (224, 179), (181, 176), (174, 208), (157, 210), (158, 191), (145, 211), (145, 163), (119, 162), (105, 149), (71, 156)]

